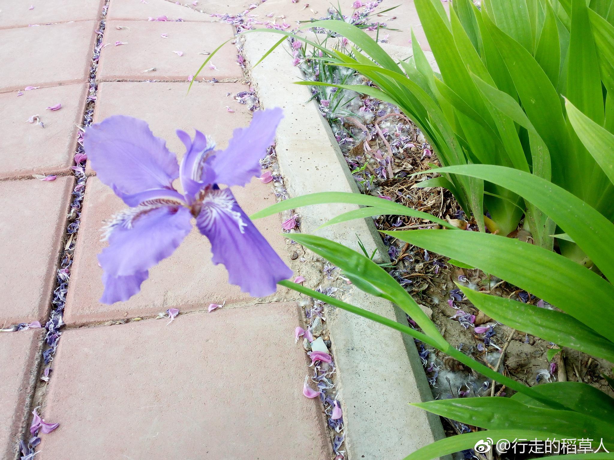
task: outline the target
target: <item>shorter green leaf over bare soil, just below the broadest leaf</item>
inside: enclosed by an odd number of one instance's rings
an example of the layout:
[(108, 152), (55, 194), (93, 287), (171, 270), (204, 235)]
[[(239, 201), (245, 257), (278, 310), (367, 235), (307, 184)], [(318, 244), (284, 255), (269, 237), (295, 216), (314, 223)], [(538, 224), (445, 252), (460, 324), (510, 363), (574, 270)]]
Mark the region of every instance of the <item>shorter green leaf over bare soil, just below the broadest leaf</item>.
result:
[(478, 310), (510, 328), (614, 362), (614, 343), (566, 313), (460, 287)]

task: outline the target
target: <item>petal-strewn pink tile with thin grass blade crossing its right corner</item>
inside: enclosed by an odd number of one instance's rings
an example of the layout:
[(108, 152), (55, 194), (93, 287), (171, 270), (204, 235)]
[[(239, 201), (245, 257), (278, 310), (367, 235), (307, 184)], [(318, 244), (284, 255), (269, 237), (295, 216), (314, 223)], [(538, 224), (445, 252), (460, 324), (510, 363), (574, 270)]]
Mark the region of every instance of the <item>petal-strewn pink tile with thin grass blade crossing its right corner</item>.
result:
[[(235, 33), (233, 26), (222, 23), (131, 21), (130, 29), (118, 30), (117, 26), (126, 25), (122, 21), (107, 21), (104, 30), (104, 44), (111, 45), (100, 53), (96, 74), (100, 81), (186, 81), (206, 59), (198, 53), (212, 52)], [(162, 34), (168, 37), (163, 38)], [(126, 44), (115, 46), (116, 42)], [(228, 42), (204, 67), (199, 79), (241, 79), (243, 71), (236, 58), (236, 47)], [(152, 68), (155, 71), (144, 72)]]

